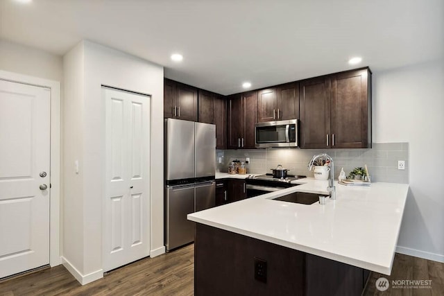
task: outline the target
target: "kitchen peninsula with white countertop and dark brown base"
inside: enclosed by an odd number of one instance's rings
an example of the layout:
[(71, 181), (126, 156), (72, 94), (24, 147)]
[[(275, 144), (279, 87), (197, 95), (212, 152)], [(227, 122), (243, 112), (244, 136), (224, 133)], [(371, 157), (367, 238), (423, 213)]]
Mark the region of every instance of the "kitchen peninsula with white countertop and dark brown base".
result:
[(196, 295), (359, 295), (368, 270), (389, 275), (407, 184), (336, 184), (336, 200), (273, 200), (327, 181), (189, 214), (196, 222)]

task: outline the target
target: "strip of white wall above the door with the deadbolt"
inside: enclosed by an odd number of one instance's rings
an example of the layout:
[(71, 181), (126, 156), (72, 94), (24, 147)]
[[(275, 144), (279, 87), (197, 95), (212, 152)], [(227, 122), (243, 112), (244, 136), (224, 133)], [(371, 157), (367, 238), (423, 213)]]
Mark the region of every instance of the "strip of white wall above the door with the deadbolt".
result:
[(40, 49), (0, 40), (0, 69), (62, 81), (62, 57)]

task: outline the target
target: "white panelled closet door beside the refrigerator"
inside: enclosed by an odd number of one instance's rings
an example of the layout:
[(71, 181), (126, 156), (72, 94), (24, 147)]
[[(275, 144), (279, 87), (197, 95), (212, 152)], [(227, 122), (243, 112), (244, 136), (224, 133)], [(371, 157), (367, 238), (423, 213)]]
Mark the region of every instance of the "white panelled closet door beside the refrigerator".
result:
[(103, 87), (106, 190), (103, 271), (149, 256), (150, 97)]

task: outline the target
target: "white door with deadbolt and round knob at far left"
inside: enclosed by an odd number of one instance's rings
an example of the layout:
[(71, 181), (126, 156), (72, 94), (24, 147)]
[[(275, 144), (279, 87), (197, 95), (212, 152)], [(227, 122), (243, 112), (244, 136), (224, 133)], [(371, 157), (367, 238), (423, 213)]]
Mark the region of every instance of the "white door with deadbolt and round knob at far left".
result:
[(50, 89), (0, 80), (0, 278), (49, 264), (49, 123)]

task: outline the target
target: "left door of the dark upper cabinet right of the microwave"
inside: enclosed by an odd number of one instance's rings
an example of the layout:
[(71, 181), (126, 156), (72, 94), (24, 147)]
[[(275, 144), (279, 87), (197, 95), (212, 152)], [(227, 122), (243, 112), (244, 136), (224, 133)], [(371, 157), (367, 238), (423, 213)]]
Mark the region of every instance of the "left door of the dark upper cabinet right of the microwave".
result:
[(300, 148), (330, 148), (330, 80), (307, 79), (299, 87)]

